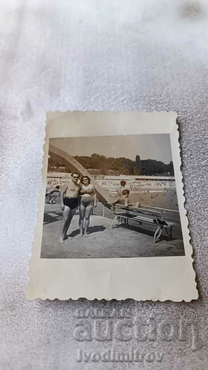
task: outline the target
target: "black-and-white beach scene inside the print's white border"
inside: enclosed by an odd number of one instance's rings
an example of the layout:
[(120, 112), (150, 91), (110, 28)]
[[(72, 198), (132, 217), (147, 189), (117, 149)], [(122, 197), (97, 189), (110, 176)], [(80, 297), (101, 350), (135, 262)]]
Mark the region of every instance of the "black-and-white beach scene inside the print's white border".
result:
[(41, 258), (184, 254), (170, 134), (49, 140)]

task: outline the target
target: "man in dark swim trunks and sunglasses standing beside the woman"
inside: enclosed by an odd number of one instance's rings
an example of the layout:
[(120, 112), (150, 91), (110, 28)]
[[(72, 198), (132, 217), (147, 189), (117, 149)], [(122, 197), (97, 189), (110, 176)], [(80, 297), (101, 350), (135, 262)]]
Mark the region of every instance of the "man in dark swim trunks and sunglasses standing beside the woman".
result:
[(63, 211), (61, 234), (58, 239), (60, 244), (64, 244), (64, 239), (72, 239), (71, 236), (67, 235), (67, 231), (74, 213), (80, 206), (80, 185), (77, 184), (80, 174), (74, 172), (71, 177), (71, 181), (64, 184), (60, 194), (60, 205)]

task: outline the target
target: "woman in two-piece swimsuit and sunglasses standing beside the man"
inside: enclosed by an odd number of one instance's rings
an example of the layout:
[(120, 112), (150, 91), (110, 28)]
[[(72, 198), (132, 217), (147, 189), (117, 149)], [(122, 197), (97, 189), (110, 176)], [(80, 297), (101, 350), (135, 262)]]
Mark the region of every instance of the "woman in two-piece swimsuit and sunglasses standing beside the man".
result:
[(84, 236), (87, 235), (87, 228), (90, 223), (90, 215), (93, 208), (97, 207), (97, 196), (95, 188), (90, 184), (90, 178), (88, 176), (83, 176), (81, 178), (82, 188), (80, 191), (80, 236), (83, 236), (83, 224), (84, 224)]

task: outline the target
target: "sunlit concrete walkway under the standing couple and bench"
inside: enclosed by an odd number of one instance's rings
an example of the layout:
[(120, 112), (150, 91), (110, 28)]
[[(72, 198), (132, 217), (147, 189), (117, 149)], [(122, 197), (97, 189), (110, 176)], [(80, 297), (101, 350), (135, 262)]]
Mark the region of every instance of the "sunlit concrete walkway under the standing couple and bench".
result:
[[(88, 228), (88, 238), (79, 235), (79, 214), (73, 217), (68, 235), (73, 239), (58, 243), (62, 212), (60, 205), (46, 204), (44, 213), (43, 240), (41, 258), (126, 258), (183, 256), (182, 240), (162, 238), (153, 244), (153, 233), (149, 235), (139, 227), (126, 229), (119, 226), (111, 229), (112, 220), (92, 215)], [(140, 232), (141, 230), (141, 232)], [(145, 231), (146, 232), (146, 231)], [(166, 240), (164, 240), (166, 239)]]

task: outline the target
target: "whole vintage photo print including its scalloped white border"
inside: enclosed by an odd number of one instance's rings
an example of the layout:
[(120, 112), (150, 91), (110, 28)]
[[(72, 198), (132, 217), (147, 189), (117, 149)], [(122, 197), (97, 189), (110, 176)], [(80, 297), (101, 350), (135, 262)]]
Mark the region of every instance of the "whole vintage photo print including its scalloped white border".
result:
[(28, 299), (197, 297), (175, 112), (48, 112)]

